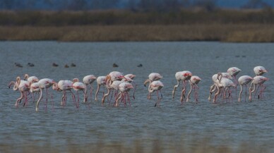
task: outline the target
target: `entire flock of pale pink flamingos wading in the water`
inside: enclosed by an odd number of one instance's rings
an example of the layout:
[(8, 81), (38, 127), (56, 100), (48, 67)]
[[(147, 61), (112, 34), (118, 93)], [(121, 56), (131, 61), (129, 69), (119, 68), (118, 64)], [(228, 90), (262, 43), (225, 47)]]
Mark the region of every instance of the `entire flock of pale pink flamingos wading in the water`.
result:
[[(266, 68), (263, 66), (256, 66), (254, 68), (254, 73), (256, 76), (252, 78), (249, 75), (242, 75), (237, 80), (236, 75), (239, 74), (241, 70), (237, 67), (228, 68), (226, 73), (217, 73), (213, 75), (213, 85), (210, 86), (210, 94), (208, 97), (208, 101), (211, 102), (212, 94), (214, 94), (213, 103), (218, 102), (218, 99), (222, 97), (222, 99), (232, 99), (232, 90), (235, 89), (237, 92), (237, 86), (240, 85), (241, 90), (239, 92), (239, 99), (238, 102), (241, 102), (242, 92), (243, 92), (243, 86), (247, 88), (247, 85), (249, 82), (251, 82), (251, 85), (249, 86), (249, 100), (251, 101), (251, 96), (254, 92), (258, 92), (258, 98), (263, 96), (263, 90), (266, 89), (266, 86), (263, 85), (263, 82), (268, 80), (268, 78), (263, 77), (263, 73), (266, 73)], [(52, 90), (55, 90), (57, 92), (63, 92), (61, 97), (61, 106), (66, 106), (66, 99), (67, 99), (67, 92), (71, 93), (71, 97), (73, 99), (73, 104), (76, 105), (76, 108), (79, 107), (79, 94), (78, 90), (83, 91), (83, 102), (88, 103), (88, 85), (90, 85), (90, 101), (92, 99), (93, 95), (93, 82), (97, 81), (97, 90), (95, 93), (95, 101), (97, 101), (97, 95), (100, 91), (100, 87), (104, 87), (104, 92), (102, 95), (102, 105), (105, 104), (105, 99), (107, 98), (110, 102), (112, 101), (112, 96), (114, 94), (114, 104), (113, 106), (119, 106), (120, 102), (123, 102), (124, 105), (129, 103), (131, 105), (130, 101), (130, 95), (129, 91), (133, 90), (133, 99), (135, 99), (134, 94), (136, 90), (136, 83), (133, 81), (133, 78), (135, 78), (136, 75), (128, 74), (123, 75), (123, 73), (120, 73), (118, 71), (113, 71), (109, 73), (106, 76), (99, 76), (95, 77), (95, 75), (87, 75), (83, 78), (83, 82), (79, 82), (78, 78), (74, 78), (73, 80), (59, 80), (59, 82), (55, 82), (52, 79), (49, 78), (43, 78), (39, 80), (36, 76), (29, 76), (28, 74), (24, 75), (24, 80), (21, 80), (18, 76), (16, 78), (16, 81), (11, 81), (8, 84), (8, 87), (10, 88), (13, 85), (13, 90), (20, 92), (20, 97), (16, 100), (15, 106), (17, 107), (18, 104), (21, 102), (22, 99), (25, 99), (25, 104), (28, 104), (28, 96), (31, 95), (33, 100), (35, 101), (35, 92), (40, 92), (40, 97), (37, 99), (35, 109), (36, 111), (39, 110), (39, 104), (41, 100), (43, 99), (43, 90), (46, 90), (46, 98), (45, 98), (45, 106), (47, 107), (47, 102), (49, 96), (52, 98), (52, 94), (48, 92), (49, 87), (52, 87)], [(155, 106), (159, 106), (160, 99), (162, 99), (162, 93), (161, 89), (164, 87), (163, 83), (160, 81), (162, 78), (162, 75), (159, 73), (150, 73), (148, 75), (148, 79), (145, 80), (143, 83), (144, 85), (148, 85), (148, 99), (150, 99), (150, 96), (153, 92), (157, 92), (157, 102), (155, 103)], [(194, 99), (196, 102), (198, 102), (198, 82), (201, 81), (201, 78), (199, 78), (196, 75), (192, 75), (190, 71), (180, 71), (175, 74), (175, 78), (177, 80), (177, 85), (174, 85), (173, 91), (172, 91), (172, 98), (174, 99), (175, 91), (177, 90), (177, 87), (179, 87), (180, 82), (182, 82), (182, 90), (181, 90), (181, 104), (184, 102), (184, 99), (186, 99), (186, 102), (189, 102), (190, 95), (192, 90), (194, 90)], [(187, 83), (190, 85), (190, 90), (188, 94), (186, 95), (186, 86)], [(135, 87), (134, 87), (135, 86)], [(257, 87), (258, 86), (258, 87)], [(105, 87), (107, 88), (107, 93), (105, 93)], [(232, 88), (232, 89), (231, 89)], [(259, 90), (260, 88), (260, 90)], [(71, 90), (75, 90), (77, 94), (73, 94)], [(113, 93), (114, 92), (114, 93)], [(159, 96), (159, 92), (161, 94), (161, 97)], [(30, 94), (32, 93), (32, 94)], [(111, 97), (109, 98), (109, 94), (111, 94)], [(247, 94), (247, 89), (245, 89), (245, 93)], [(49, 95), (50, 94), (50, 95)], [(228, 95), (227, 95), (228, 94)], [(256, 95), (256, 94), (255, 94)], [(53, 100), (52, 100), (53, 102)], [(88, 103), (89, 104), (89, 103)]]

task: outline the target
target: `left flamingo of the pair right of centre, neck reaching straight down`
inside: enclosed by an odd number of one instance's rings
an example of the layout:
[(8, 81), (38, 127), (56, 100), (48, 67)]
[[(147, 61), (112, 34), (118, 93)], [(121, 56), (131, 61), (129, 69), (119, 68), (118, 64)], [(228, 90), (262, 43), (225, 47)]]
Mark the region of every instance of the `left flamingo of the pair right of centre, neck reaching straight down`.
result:
[(183, 88), (181, 90), (181, 104), (183, 103), (184, 100), (184, 93), (186, 92), (186, 80), (189, 80), (192, 76), (192, 73), (190, 71), (180, 71), (175, 73), (175, 78), (177, 80), (177, 85), (174, 85), (173, 91), (172, 91), (172, 98), (174, 99), (175, 96), (175, 91), (177, 87), (179, 87), (179, 82), (183, 82)]

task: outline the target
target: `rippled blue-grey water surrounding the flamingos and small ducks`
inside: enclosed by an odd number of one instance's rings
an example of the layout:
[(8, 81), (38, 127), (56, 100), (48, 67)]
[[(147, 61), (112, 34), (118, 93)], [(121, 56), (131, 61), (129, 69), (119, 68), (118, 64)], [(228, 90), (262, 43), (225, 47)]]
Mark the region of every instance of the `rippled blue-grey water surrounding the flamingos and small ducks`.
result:
[[(64, 68), (71, 63), (76, 67)], [(273, 43), (0, 42), (0, 152), (274, 152), (273, 65)], [(242, 70), (238, 78), (254, 76), (254, 66), (268, 70), (263, 99), (208, 102), (211, 76), (232, 66)], [(191, 96), (191, 102), (181, 104), (181, 87), (172, 100), (174, 74), (185, 70), (202, 79), (198, 103)], [(51, 89), (54, 107), (49, 103), (45, 110), (42, 103), (35, 112), (33, 102), (16, 108), (20, 93), (7, 87), (25, 73), (58, 81), (111, 71), (136, 75), (131, 106), (102, 106), (94, 102), (93, 90), (90, 108), (81, 103), (76, 109), (69, 95), (63, 108), (61, 92)], [(148, 100), (143, 86), (152, 72), (163, 75), (159, 107), (154, 107), (156, 94)]]

